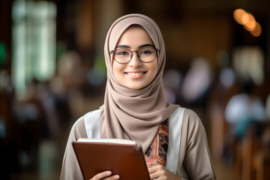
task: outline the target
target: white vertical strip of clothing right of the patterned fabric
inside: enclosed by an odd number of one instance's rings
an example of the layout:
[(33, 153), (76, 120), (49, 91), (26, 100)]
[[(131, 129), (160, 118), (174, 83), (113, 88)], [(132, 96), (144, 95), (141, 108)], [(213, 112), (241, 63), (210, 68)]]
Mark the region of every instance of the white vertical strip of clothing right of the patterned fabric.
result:
[(168, 119), (169, 144), (167, 151), (166, 168), (174, 174), (176, 173), (178, 164), (184, 109), (184, 107), (178, 107), (174, 110), (174, 112), (172, 112)]

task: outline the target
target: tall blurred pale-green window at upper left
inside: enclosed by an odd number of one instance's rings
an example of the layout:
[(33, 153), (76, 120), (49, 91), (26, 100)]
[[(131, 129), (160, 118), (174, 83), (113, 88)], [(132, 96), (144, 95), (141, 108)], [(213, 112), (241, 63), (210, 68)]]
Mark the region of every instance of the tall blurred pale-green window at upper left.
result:
[(23, 98), (35, 78), (46, 81), (55, 72), (56, 6), (52, 2), (15, 0), (12, 4), (12, 81)]

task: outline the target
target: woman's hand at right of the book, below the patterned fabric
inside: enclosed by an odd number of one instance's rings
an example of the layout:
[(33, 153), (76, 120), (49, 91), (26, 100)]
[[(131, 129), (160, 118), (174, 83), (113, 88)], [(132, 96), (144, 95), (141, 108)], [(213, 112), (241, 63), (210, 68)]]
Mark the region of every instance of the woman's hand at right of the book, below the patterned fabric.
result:
[(172, 172), (170, 172), (166, 167), (163, 165), (155, 165), (150, 168), (148, 168), (149, 174), (150, 174), (150, 179), (157, 179), (158, 180), (179, 180), (181, 179), (180, 177), (176, 176)]

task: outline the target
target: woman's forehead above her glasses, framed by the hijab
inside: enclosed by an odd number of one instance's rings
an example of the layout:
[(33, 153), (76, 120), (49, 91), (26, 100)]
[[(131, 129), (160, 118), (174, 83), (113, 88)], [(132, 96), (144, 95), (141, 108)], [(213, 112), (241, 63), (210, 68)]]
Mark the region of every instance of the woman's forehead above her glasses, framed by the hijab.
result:
[(140, 28), (131, 27), (126, 29), (120, 36), (117, 45), (129, 45), (134, 48), (141, 44), (153, 44), (151, 37), (147, 32)]

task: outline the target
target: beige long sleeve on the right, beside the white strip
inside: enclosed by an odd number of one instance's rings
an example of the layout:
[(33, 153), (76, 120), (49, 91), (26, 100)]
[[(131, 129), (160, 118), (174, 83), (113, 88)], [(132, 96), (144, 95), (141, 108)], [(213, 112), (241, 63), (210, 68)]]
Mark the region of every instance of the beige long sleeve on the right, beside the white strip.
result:
[(206, 133), (197, 114), (185, 109), (176, 175), (182, 179), (215, 179)]

